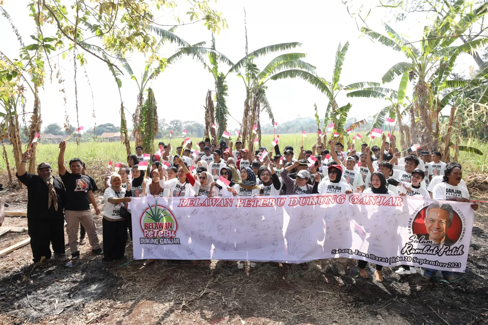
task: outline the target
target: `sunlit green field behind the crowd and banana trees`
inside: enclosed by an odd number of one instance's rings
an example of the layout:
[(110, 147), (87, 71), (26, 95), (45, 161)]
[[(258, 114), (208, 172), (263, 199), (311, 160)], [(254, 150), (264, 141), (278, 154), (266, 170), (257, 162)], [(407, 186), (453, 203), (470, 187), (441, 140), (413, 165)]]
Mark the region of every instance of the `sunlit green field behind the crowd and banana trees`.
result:
[[(359, 132), (363, 136), (363, 142), (369, 143), (369, 138), (366, 136), (366, 132)], [(231, 138), (232, 141), (236, 141), (236, 137)], [(163, 141), (164, 143), (168, 143), (169, 139), (158, 139), (155, 140), (155, 147), (159, 141)], [(183, 138), (176, 138), (173, 139), (173, 153), (176, 152), (176, 147), (181, 144)], [(192, 138), (193, 147), (198, 147), (197, 143), (200, 139)], [(271, 150), (271, 142), (273, 141), (273, 135), (263, 135), (261, 140), (261, 145), (266, 147), (268, 150)], [(315, 144), (317, 139), (315, 135), (308, 134), (308, 137), (303, 138), (305, 150), (311, 149), (312, 145)], [(372, 145), (380, 145), (380, 139), (375, 139)], [(356, 141), (356, 145), (361, 145), (362, 142)], [(466, 145), (466, 143), (462, 143)], [(298, 151), (300, 146), (302, 145), (302, 137), (301, 134), (283, 134), (280, 135), (280, 150), (283, 152), (283, 148), (285, 145), (291, 145), (295, 149), (295, 152)], [(472, 153), (467, 152), (460, 152), (459, 153), (459, 162), (463, 164), (463, 167), (468, 169), (469, 171), (484, 171), (486, 169), (486, 153), (488, 153), (488, 143), (481, 142), (481, 141), (471, 141), (470, 146), (480, 149), (485, 155), (480, 156)], [(12, 150), (9, 145), (6, 145), (7, 148), (7, 155), (10, 162), (10, 166), (12, 167), (14, 164), (14, 159), (12, 155)], [(58, 144), (38, 144), (37, 150), (37, 162), (48, 162), (54, 164), (55, 167), (57, 158), (58, 158)], [(134, 150), (134, 142), (131, 142), (131, 148), (133, 152)], [(256, 148), (255, 148), (256, 149)], [(452, 154), (453, 154), (453, 150)], [(74, 157), (79, 157), (83, 160), (89, 167), (93, 164), (102, 164), (106, 166), (108, 161), (113, 162), (126, 162), (127, 156), (125, 154), (125, 147), (120, 142), (81, 142), (79, 146), (76, 145), (76, 142), (68, 142), (66, 145), (66, 154), (65, 159), (69, 160)], [(0, 159), (0, 170), (5, 168), (5, 161)], [(57, 169), (55, 167), (55, 169)]]

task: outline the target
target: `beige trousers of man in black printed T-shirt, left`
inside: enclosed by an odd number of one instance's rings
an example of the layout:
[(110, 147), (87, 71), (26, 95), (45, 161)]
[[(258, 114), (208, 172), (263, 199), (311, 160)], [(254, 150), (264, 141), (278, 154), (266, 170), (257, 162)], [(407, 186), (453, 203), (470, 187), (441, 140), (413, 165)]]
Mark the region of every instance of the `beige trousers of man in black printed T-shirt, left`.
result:
[(86, 230), (88, 241), (92, 249), (100, 248), (100, 242), (97, 236), (97, 226), (93, 220), (93, 215), (90, 210), (73, 211), (64, 210), (64, 217), (66, 219), (66, 234), (68, 234), (68, 243), (71, 253), (78, 251), (78, 228), (81, 223)]

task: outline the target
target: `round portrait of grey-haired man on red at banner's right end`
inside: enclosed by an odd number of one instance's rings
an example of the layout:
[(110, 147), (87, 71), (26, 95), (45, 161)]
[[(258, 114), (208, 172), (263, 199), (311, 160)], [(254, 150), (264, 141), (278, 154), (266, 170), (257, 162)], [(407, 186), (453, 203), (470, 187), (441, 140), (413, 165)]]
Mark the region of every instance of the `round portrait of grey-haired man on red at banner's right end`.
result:
[(462, 228), (461, 218), (452, 206), (440, 202), (422, 208), (412, 223), (413, 234), (419, 240), (441, 246), (455, 244), (461, 236)]

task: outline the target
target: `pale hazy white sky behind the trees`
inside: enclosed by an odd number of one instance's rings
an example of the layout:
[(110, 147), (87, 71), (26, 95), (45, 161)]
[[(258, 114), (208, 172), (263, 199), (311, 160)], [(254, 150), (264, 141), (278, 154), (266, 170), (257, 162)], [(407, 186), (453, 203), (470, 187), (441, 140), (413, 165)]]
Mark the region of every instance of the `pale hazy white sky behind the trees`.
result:
[[(364, 2), (369, 3), (371, 1), (373, 0)], [(31, 41), (29, 35), (34, 34), (35, 25), (32, 18), (28, 16), (27, 3), (27, 0), (6, 0), (3, 7), (12, 16), (24, 42), (29, 44)], [(223, 12), (229, 24), (228, 29), (215, 36), (217, 50), (234, 62), (244, 56), (243, 6), (245, 6), (247, 13), (249, 51), (270, 44), (299, 41), (302, 46), (288, 52), (306, 53), (307, 57), (304, 60), (315, 65), (318, 74), (326, 80), (332, 79), (335, 53), (339, 42), (344, 44), (349, 41), (350, 43), (341, 75), (340, 82), (342, 84), (358, 81), (380, 82), (381, 77), (393, 64), (399, 61), (408, 61), (402, 53), (390, 50), (366, 37), (359, 38), (360, 32), (356, 23), (349, 16), (346, 6), (340, 0), (304, 0), (300, 2), (289, 0), (279, 2), (270, 0), (219, 0), (217, 4), (212, 2), (211, 5)], [(374, 8), (367, 19), (369, 27), (385, 34), (382, 21), (390, 20), (384, 17), (385, 14), (384, 9)], [(404, 22), (390, 21), (388, 23), (409, 40), (416, 41), (420, 37), (424, 21), (425, 17), (410, 16), (410, 19)], [(167, 16), (159, 17), (158, 22), (173, 23), (174, 21), (170, 16)], [(10, 58), (18, 57), (18, 42), (13, 33), (10, 32), (10, 27), (3, 17), (0, 17), (0, 30), (5, 31), (1, 33), (1, 50)], [(192, 44), (199, 41), (209, 41), (211, 37), (210, 32), (201, 23), (180, 26), (176, 33)], [(49, 36), (48, 34), (44, 36)], [(162, 55), (167, 57), (173, 54), (176, 48), (175, 45), (169, 44), (163, 48)], [(267, 62), (277, 55), (268, 55), (255, 60), (255, 62), (262, 69)], [(129, 54), (129, 57), (134, 72), (137, 74), (136, 71), (139, 71), (140, 73), (144, 68), (144, 57), (141, 54)], [(97, 58), (88, 53), (85, 54), (85, 58), (88, 63), (84, 67), (91, 83), (91, 89), (85, 77), (84, 68), (79, 67), (77, 81), (80, 125), (90, 127), (94, 124), (93, 105), (97, 124), (113, 123), (120, 125), (119, 93), (111, 73), (105, 63)], [(72, 59), (71, 53), (65, 60), (62, 60), (61, 56), (54, 57), (52, 63), (58, 64), (59, 62), (66, 91), (66, 109), (69, 121), (76, 125)], [(469, 65), (474, 64), (468, 55), (461, 56), (460, 62), (458, 69), (467, 69)], [(118, 65), (123, 70), (122, 64), (118, 63)], [(53, 122), (63, 125), (65, 106), (63, 94), (60, 92), (63, 86), (55, 78), (58, 68), (53, 73), (52, 82), (49, 80), (50, 72), (47, 64), (46, 69), (48, 76), (44, 88), (40, 91), (43, 126)], [(221, 63), (220, 70), (226, 73), (228, 67)], [(227, 83), (229, 87), (227, 105), (230, 115), (241, 122), (245, 99), (244, 83), (235, 74), (229, 74)], [(291, 120), (297, 115), (302, 117), (313, 116), (314, 102), (317, 103), (319, 116), (323, 119), (327, 99), (312, 85), (299, 79), (269, 81), (267, 85), (267, 98), (278, 123)], [(150, 82), (150, 86), (155, 92), (160, 118), (166, 118), (167, 122), (173, 119), (204, 122), (205, 95), (208, 89), (214, 89), (214, 80), (210, 73), (203, 69), (201, 63), (190, 58), (184, 58), (166, 68), (156, 80)], [(386, 86), (397, 89), (398, 82), (395, 81)], [(135, 81), (130, 80), (130, 77), (125, 74), (122, 77), (122, 98), (126, 108), (126, 116), (134, 112), (137, 93)], [(380, 108), (387, 105), (387, 102), (382, 100), (349, 99), (346, 98), (346, 92), (339, 95), (337, 101), (339, 106), (350, 102), (352, 108), (349, 117), (357, 117), (358, 120), (375, 114)], [(32, 97), (28, 96), (26, 106), (28, 110), (31, 110), (32, 105)], [(229, 117), (228, 120), (228, 129), (231, 132), (239, 127), (239, 124), (232, 117)], [(267, 121), (269, 120), (263, 115), (261, 123), (264, 124)]]

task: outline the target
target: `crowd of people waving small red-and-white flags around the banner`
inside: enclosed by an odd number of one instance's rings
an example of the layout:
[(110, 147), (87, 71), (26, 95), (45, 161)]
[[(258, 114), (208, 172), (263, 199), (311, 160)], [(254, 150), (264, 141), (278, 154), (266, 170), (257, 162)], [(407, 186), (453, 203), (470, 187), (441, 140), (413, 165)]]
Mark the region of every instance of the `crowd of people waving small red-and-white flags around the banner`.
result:
[[(142, 146), (136, 154), (129, 155), (127, 162), (108, 174), (104, 183), (104, 209), (101, 212), (93, 191), (97, 185), (86, 175), (85, 164), (79, 158), (69, 161), (69, 171), (64, 164), (66, 143), (60, 143), (58, 170), (60, 179), (52, 175), (49, 163), (38, 166), (38, 174), (26, 172), (30, 159), (25, 152), (17, 172), (20, 182), (28, 188), (27, 220), (31, 237), (34, 263), (41, 257), (50, 259), (65, 257), (63, 224), (71, 260), (80, 257), (79, 245), (84, 234), (91, 245), (91, 253), (103, 255), (102, 261), (126, 259), (124, 252), (128, 236), (132, 240), (130, 201), (133, 197), (221, 197), (221, 196), (276, 196), (312, 193), (393, 194), (428, 199), (469, 202), (466, 183), (462, 180), (462, 166), (457, 162), (444, 163), (438, 151), (412, 151), (404, 157), (396, 147), (396, 139), (381, 138), (381, 146), (371, 148), (362, 143), (358, 150), (354, 144), (347, 149), (340, 142), (330, 139), (326, 149), (318, 138), (311, 150), (286, 145), (283, 153), (278, 144), (268, 151), (266, 147), (254, 150), (249, 143), (243, 148), (241, 141), (211, 142), (209, 138), (193, 148), (191, 141), (173, 148), (170, 143), (160, 142), (159, 150), (144, 155)], [(274, 143), (273, 143), (274, 144)], [(235, 145), (235, 147), (234, 147)], [(147, 157), (147, 158), (146, 158)], [(150, 158), (149, 158), (150, 157)], [(139, 164), (148, 161), (148, 166)], [(142, 164), (141, 164), (142, 165)], [(145, 164), (144, 164), (145, 165)], [(218, 180), (226, 182), (219, 182)], [(97, 235), (95, 215), (102, 213), (103, 250)], [(478, 205), (472, 203), (476, 210)], [(449, 226), (449, 220), (433, 227)], [(79, 229), (82, 229), (79, 237)], [(129, 235), (127, 235), (127, 232)], [(80, 240), (79, 240), (80, 238)], [(346, 274), (347, 258), (336, 259), (339, 275)], [(146, 261), (146, 264), (154, 260)], [(202, 261), (194, 261), (198, 265)], [(323, 271), (329, 269), (329, 259), (320, 261)], [(209, 261), (203, 261), (209, 264)], [(359, 275), (368, 278), (366, 261), (359, 261)], [(244, 263), (224, 261), (229, 267), (242, 268)], [(255, 267), (251, 262), (250, 266)], [(303, 270), (307, 263), (300, 264)], [(416, 268), (402, 265), (395, 271), (401, 275), (416, 273)], [(426, 268), (420, 278), (430, 282), (436, 270)], [(442, 271), (447, 281), (454, 281), (452, 272)], [(376, 265), (374, 279), (383, 281), (382, 266)]]

